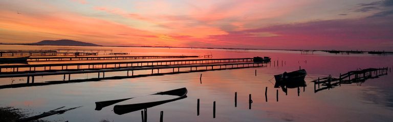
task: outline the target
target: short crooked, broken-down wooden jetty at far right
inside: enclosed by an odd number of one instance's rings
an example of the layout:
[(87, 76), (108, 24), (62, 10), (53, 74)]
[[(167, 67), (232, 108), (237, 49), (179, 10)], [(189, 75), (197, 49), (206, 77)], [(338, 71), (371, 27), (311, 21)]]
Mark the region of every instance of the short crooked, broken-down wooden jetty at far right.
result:
[[(387, 72), (388, 68), (368, 68), (340, 74), (338, 78), (334, 78), (330, 75), (329, 77), (318, 78), (317, 80), (313, 80), (311, 82), (314, 82), (314, 92), (317, 93), (324, 89), (333, 88), (334, 86), (341, 86), (341, 84), (362, 83), (367, 79), (378, 78), (379, 76), (387, 75)], [(320, 85), (324, 87), (321, 88)]]

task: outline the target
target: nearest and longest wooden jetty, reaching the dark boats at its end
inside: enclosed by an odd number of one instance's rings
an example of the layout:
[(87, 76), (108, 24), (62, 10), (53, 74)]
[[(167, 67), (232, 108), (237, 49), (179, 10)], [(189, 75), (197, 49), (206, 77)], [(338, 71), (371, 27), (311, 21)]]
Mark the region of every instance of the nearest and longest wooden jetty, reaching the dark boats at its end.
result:
[[(229, 60), (229, 59), (228, 59)], [(165, 74), (177, 74), (177, 73), (189, 73), (189, 72), (202, 72), (209, 70), (227, 70), (227, 69), (241, 69), (241, 68), (253, 68), (253, 67), (264, 67), (263, 62), (226, 62), (226, 63), (212, 63), (207, 62), (206, 60), (201, 60), (201, 62), (205, 62), (203, 64), (185, 64), (185, 65), (170, 65), (170, 66), (154, 66), (154, 67), (119, 67), (113, 69), (97, 69), (97, 70), (75, 70), (75, 71), (57, 71), (57, 72), (34, 72), (34, 73), (14, 73), (14, 74), (0, 74), (0, 78), (14, 78), (14, 77), (26, 77), (26, 83), (19, 84), (9, 84), (9, 85), (1, 85), (1, 88), (11, 88), (11, 87), (25, 87), (25, 86), (34, 86), (36, 85), (48, 85), (48, 84), (60, 84), (60, 83), (69, 83), (69, 82), (83, 82), (83, 81), (97, 81), (102, 79), (121, 79), (121, 78), (132, 78), (138, 77), (134, 75), (136, 71), (149, 71), (151, 70), (151, 74), (142, 74), (141, 76), (155, 76), (155, 75), (165, 75)], [(180, 62), (178, 62), (180, 63)], [(183, 63), (185, 63), (183, 61)], [(164, 69), (172, 69), (170, 72)], [(126, 71), (126, 72), (124, 72)], [(157, 72), (155, 72), (157, 71)], [(105, 77), (105, 73), (107, 72), (124, 72), (123, 76), (112, 76)], [(131, 72), (131, 75), (130, 73)], [(71, 80), (71, 74), (88, 74), (88, 73), (97, 73), (97, 77), (88, 78), (88, 79), (74, 79)], [(146, 73), (146, 72), (144, 72)], [(119, 75), (120, 73), (116, 73)], [(47, 81), (34, 83), (34, 77), (36, 76), (59, 76), (62, 77), (62, 81)], [(66, 79), (68, 76), (68, 80)]]

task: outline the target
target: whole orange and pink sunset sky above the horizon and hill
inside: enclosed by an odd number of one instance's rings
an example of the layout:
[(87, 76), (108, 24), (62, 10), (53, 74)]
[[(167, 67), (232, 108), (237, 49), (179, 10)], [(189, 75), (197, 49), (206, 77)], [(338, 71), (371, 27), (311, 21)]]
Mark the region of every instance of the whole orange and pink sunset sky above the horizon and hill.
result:
[(393, 0), (0, 1), (0, 43), (59, 39), (107, 46), (393, 51)]

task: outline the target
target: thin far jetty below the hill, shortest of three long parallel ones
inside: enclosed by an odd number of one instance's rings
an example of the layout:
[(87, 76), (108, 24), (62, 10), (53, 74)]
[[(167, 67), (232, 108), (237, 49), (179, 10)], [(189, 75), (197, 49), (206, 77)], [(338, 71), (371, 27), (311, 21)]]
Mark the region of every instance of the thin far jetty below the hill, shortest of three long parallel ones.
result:
[(169, 55), (169, 56), (45, 56), (45, 57), (29, 57), (29, 62), (38, 61), (62, 61), (62, 60), (102, 60), (102, 59), (146, 59), (146, 58), (186, 58), (186, 57), (199, 57), (199, 56), (186, 56), (186, 55)]

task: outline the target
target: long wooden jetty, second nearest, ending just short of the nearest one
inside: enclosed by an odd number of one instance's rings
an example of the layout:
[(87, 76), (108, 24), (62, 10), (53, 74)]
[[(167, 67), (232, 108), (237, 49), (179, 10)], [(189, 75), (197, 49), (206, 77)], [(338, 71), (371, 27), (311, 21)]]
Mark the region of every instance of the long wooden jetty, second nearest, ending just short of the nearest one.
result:
[[(61, 64), (33, 64), (33, 65), (4, 65), (0, 66), (1, 74), (55, 72), (75, 70), (97, 70), (135, 67), (156, 67), (191, 64), (217, 64), (253, 62), (253, 58), (216, 58), (216, 59), (181, 59), (181, 60), (148, 60), (134, 62), (98, 62), (98, 63), (61, 63)], [(3, 71), (3, 69), (6, 69)], [(8, 69), (12, 69), (8, 71)]]

